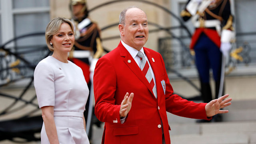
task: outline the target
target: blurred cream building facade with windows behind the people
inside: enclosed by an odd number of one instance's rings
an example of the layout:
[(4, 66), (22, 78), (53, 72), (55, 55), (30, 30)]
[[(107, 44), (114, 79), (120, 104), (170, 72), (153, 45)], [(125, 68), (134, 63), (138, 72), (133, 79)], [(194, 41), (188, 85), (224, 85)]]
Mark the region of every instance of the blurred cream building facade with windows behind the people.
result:
[[(193, 57), (187, 56), (190, 37), (187, 30), (179, 28), (183, 24), (192, 34), (191, 22), (180, 20), (180, 11), (187, 0), (87, 0), (89, 17), (102, 29), (104, 48), (114, 49), (120, 42), (118, 22), (119, 14), (128, 6), (142, 8), (149, 21), (149, 39), (146, 47), (160, 52), (168, 67), (180, 69), (192, 68), (196, 76)], [(230, 65), (240, 70), (238, 75), (248, 74), (248, 68), (256, 66), (256, 26), (254, 25), (253, 6), (256, 0), (230, 0), (235, 16), (236, 42), (234, 48), (246, 47), (241, 53), (243, 61), (233, 60)], [(0, 0), (0, 45), (9, 40), (36, 32), (44, 32), (51, 18), (61, 16), (71, 18), (70, 0)], [(18, 47), (43, 45), (44, 36), (30, 36), (15, 40), (6, 47), (16, 51)], [(162, 48), (162, 49), (161, 49)], [(185, 75), (186, 74), (186, 70)], [(251, 71), (251, 70), (250, 70)], [(231, 73), (232, 74), (232, 73)], [(256, 72), (250, 72), (256, 74)], [(189, 74), (188, 74), (189, 75)]]

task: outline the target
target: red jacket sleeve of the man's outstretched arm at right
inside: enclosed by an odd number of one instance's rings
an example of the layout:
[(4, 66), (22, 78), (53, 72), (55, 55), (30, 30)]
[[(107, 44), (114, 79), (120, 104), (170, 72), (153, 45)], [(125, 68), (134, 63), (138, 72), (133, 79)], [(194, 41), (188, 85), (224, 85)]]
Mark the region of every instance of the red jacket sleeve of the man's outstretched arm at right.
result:
[(186, 118), (196, 118), (196, 119), (205, 119), (210, 120), (206, 116), (205, 105), (206, 103), (195, 103), (193, 101), (188, 101), (184, 98), (181, 98), (177, 94), (174, 94), (173, 88), (170, 84), (168, 75), (166, 73), (164, 60), (161, 56), (162, 64), (164, 67), (164, 74), (166, 77), (166, 93), (165, 93), (165, 103), (166, 111), (177, 116), (182, 116)]

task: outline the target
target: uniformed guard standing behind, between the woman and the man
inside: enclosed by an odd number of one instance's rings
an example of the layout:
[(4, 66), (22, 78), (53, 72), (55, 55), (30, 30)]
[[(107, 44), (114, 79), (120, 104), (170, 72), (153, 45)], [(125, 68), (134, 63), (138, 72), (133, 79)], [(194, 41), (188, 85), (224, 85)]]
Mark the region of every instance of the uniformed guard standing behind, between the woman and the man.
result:
[[(92, 22), (90, 18), (88, 18), (86, 0), (71, 0), (70, 8), (72, 11), (71, 22), (74, 25), (75, 42), (74, 48), (69, 54), (69, 59), (80, 68), (82, 68), (84, 77), (90, 90), (90, 95), (86, 103), (85, 111), (85, 120), (86, 125), (88, 126), (88, 124), (91, 125), (91, 116), (94, 116), (94, 68), (98, 58), (101, 57), (104, 50), (102, 48), (100, 39), (100, 29), (95, 22)], [(86, 129), (89, 139), (91, 137), (90, 129), (89, 126)]]

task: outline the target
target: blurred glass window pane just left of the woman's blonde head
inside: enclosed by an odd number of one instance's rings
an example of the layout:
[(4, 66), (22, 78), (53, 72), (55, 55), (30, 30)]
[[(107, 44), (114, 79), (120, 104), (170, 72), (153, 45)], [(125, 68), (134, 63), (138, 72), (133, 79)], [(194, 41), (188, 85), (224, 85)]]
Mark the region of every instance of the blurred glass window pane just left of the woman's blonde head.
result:
[[(14, 36), (44, 32), (50, 20), (48, 0), (13, 0)], [(17, 41), (17, 46), (45, 44), (44, 35)]]

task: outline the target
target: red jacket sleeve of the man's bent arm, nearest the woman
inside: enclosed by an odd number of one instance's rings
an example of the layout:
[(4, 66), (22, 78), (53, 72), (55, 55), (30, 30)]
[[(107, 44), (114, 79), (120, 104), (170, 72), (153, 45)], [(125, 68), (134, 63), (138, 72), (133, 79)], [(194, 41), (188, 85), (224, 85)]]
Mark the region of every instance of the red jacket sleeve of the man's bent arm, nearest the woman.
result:
[(115, 102), (116, 72), (110, 60), (102, 57), (94, 70), (95, 115), (102, 122), (120, 124), (120, 105)]

